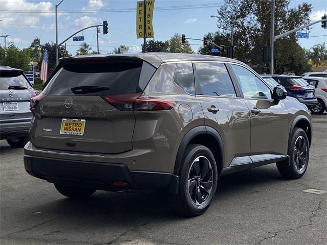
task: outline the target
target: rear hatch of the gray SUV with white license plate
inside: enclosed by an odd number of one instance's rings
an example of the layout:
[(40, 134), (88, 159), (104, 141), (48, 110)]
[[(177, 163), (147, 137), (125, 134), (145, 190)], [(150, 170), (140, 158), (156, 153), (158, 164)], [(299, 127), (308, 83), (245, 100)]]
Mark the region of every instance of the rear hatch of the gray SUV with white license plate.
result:
[(0, 70), (0, 123), (31, 118), (30, 99), (35, 95), (21, 70)]

